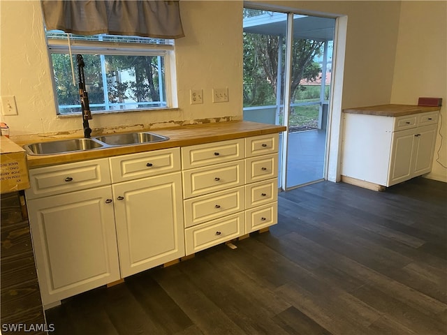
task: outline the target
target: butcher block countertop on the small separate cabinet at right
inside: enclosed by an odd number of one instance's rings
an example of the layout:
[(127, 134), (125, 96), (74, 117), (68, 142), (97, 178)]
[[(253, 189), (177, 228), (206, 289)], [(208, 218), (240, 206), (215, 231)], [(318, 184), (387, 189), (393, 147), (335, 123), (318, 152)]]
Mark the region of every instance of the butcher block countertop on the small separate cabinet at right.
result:
[(426, 107), (415, 105), (377, 105), (358, 108), (346, 108), (344, 113), (351, 114), (370, 114), (378, 115), (381, 117), (403, 117), (405, 115), (434, 112), (440, 110), (441, 107)]

